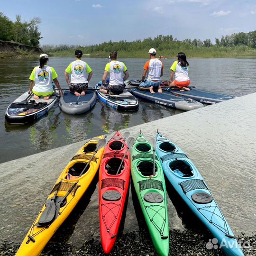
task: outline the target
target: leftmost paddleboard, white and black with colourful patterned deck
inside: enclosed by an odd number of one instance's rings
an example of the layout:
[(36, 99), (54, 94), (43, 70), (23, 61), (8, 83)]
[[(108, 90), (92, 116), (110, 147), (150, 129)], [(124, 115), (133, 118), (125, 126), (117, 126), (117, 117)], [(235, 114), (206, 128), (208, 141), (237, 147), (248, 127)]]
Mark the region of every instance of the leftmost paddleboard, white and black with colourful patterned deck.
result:
[(33, 93), (28, 95), (25, 92), (13, 101), (6, 110), (6, 121), (11, 124), (26, 124), (38, 120), (54, 106), (59, 95), (54, 94), (49, 100), (44, 100), (44, 97), (35, 100), (33, 96)]

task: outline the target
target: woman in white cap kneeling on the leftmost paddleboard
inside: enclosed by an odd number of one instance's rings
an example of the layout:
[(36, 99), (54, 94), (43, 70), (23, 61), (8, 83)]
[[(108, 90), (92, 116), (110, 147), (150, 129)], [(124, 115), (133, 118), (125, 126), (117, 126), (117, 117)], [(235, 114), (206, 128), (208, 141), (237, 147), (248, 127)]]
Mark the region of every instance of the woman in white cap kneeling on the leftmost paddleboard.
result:
[(40, 96), (43, 96), (44, 100), (50, 99), (51, 95), (54, 93), (52, 80), (59, 89), (60, 95), (63, 96), (55, 69), (46, 65), (48, 60), (49, 58), (47, 54), (41, 54), (39, 56), (40, 65), (33, 69), (29, 77), (31, 81), (28, 94), (33, 92), (35, 100), (38, 100)]

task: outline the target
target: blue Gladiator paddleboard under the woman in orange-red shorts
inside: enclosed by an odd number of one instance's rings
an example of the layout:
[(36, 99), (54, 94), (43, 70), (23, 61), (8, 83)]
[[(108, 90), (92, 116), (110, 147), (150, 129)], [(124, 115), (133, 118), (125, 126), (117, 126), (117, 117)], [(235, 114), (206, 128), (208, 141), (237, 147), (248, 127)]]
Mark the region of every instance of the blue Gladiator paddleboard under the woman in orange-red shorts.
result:
[[(165, 82), (162, 84), (164, 86), (166, 85)], [(191, 86), (189, 86), (188, 88), (190, 88), (190, 91), (172, 90), (171, 88), (162, 88), (162, 89), (164, 91), (168, 91), (169, 93), (172, 93), (175, 96), (189, 97), (195, 101), (199, 101), (203, 104), (209, 104), (209, 105), (237, 98), (235, 96), (230, 96), (222, 93), (196, 90)]]

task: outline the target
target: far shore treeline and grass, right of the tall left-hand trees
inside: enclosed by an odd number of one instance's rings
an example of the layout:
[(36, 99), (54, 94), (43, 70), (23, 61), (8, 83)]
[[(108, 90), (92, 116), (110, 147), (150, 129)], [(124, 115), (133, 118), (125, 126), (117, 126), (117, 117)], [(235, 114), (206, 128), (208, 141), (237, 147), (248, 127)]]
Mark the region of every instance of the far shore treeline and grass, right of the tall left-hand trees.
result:
[(256, 56), (256, 31), (249, 33), (234, 33), (230, 36), (223, 36), (215, 39), (212, 44), (210, 39), (185, 39), (183, 41), (173, 36), (159, 35), (155, 38), (148, 37), (143, 40), (127, 42), (104, 42), (91, 46), (69, 46), (69, 45), (45, 45), (44, 52), (51, 55), (73, 55), (75, 48), (81, 48), (84, 54), (92, 56), (108, 57), (111, 51), (118, 51), (119, 57), (147, 57), (148, 49), (154, 47), (157, 55), (175, 57), (178, 52), (185, 52), (190, 58), (194, 57), (245, 57)]

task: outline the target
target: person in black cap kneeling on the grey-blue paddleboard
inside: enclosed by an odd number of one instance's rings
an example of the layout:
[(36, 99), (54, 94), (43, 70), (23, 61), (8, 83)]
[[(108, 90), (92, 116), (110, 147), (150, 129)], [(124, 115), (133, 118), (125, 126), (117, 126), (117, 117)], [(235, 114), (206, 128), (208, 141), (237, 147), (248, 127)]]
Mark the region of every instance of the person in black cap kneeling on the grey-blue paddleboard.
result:
[[(88, 82), (91, 80), (92, 71), (90, 66), (81, 60), (82, 51), (75, 50), (75, 61), (70, 63), (65, 70), (65, 80), (69, 85), (69, 91), (76, 96), (84, 96), (85, 91), (88, 88)], [(71, 81), (69, 81), (69, 75), (71, 73)], [(86, 74), (88, 77), (86, 78)]]

